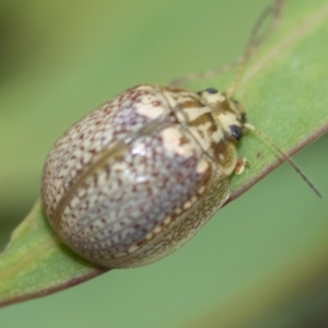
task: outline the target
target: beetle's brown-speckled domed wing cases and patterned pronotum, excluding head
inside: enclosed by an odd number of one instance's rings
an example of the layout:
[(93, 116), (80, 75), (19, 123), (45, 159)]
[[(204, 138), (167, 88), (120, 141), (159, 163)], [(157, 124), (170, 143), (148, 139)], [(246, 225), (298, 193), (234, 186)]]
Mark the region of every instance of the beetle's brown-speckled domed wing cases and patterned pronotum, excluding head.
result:
[(226, 201), (237, 161), (226, 136), (192, 92), (152, 85), (124, 92), (52, 148), (43, 175), (51, 225), (103, 266), (166, 256)]

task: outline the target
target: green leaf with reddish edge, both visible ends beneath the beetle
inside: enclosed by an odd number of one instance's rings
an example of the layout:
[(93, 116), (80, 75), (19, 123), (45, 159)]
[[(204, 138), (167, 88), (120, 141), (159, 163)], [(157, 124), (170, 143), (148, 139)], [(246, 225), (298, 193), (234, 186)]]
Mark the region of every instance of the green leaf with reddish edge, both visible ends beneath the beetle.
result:
[[(279, 30), (247, 67), (236, 94), (248, 109), (249, 121), (290, 155), (328, 130), (325, 39), (327, 3), (288, 2)], [(215, 84), (219, 82), (218, 78)], [(250, 167), (232, 177), (231, 199), (282, 162), (251, 132), (238, 145), (238, 153), (247, 157)], [(0, 258), (0, 305), (46, 295), (105, 271), (73, 255), (57, 239), (38, 201)]]

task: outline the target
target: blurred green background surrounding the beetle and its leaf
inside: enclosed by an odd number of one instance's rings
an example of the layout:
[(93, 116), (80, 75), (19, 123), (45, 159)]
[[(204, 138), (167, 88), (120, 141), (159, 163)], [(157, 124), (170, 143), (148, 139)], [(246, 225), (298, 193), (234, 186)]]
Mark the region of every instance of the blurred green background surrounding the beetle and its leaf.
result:
[[(0, 247), (66, 129), (129, 86), (232, 61), (266, 3), (2, 0)], [(295, 156), (324, 200), (283, 165), (179, 251), (3, 308), (0, 327), (328, 327), (327, 137)]]

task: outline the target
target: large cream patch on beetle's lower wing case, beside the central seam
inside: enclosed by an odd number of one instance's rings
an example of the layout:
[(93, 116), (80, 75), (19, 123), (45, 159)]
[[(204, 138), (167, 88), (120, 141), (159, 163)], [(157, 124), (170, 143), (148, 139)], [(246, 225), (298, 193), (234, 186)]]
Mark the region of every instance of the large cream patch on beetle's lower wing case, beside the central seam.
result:
[(180, 144), (183, 133), (179, 129), (166, 128), (161, 132), (163, 138), (163, 147), (167, 152), (177, 153), (184, 157), (192, 155), (192, 147), (189, 143)]

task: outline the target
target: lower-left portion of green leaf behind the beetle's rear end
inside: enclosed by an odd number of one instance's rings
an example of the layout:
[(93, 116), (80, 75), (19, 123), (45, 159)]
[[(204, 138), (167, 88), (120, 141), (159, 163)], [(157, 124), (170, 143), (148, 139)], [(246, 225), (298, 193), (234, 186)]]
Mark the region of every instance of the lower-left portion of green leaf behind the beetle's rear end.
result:
[(0, 305), (67, 289), (106, 271), (62, 245), (37, 201), (0, 257)]

